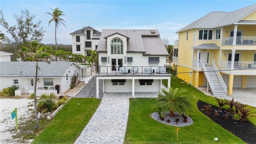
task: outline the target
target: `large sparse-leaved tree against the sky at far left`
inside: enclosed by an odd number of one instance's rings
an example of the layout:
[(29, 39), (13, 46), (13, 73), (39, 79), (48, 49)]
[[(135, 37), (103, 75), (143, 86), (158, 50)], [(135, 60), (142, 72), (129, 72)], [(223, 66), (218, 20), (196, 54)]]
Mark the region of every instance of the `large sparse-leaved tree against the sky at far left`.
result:
[(36, 16), (30, 14), (27, 9), (21, 10), (20, 16), (14, 14), (17, 22), (14, 26), (9, 26), (8, 22), (4, 19), (4, 13), (0, 10), (0, 25), (3, 26), (12, 36), (12, 42), (16, 44), (19, 50), (22, 45), (27, 46), (29, 42), (37, 40), (41, 42), (44, 37), (43, 27), (40, 27), (41, 21), (34, 22)]

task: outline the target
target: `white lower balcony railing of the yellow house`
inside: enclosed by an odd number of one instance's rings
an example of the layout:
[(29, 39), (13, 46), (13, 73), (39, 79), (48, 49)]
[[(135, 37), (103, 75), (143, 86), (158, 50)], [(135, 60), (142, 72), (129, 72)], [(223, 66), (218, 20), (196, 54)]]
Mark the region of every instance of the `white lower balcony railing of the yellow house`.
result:
[[(221, 60), (220, 61), (221, 68), (231, 68), (231, 61)], [(253, 69), (256, 70), (256, 62), (234, 62), (234, 70), (248, 70)]]

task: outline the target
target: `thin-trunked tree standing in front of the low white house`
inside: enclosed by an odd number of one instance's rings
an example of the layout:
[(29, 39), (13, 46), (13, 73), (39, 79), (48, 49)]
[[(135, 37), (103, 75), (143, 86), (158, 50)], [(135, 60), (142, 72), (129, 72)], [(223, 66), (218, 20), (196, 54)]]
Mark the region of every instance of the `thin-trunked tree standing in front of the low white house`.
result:
[(48, 58), (50, 58), (50, 54), (42, 52), (42, 48), (38, 49), (36, 52), (28, 53), (29, 59), (32, 61), (36, 61), (36, 77), (34, 84), (34, 108), (35, 108), (35, 116), (36, 116), (36, 127), (39, 128), (38, 116), (37, 116), (37, 105), (36, 105), (36, 84), (37, 84), (37, 73), (38, 73), (38, 62), (47, 62), (50, 64)]

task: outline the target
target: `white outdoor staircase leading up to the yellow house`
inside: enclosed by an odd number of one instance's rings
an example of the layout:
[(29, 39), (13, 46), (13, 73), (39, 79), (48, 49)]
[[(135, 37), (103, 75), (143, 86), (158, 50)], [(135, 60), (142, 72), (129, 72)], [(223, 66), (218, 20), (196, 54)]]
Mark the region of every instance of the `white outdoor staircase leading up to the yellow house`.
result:
[(226, 84), (220, 76), (217, 67), (214, 68), (214, 66), (216, 67), (215, 64), (213, 64), (213, 66), (203, 66), (204, 75), (214, 96), (226, 96)]

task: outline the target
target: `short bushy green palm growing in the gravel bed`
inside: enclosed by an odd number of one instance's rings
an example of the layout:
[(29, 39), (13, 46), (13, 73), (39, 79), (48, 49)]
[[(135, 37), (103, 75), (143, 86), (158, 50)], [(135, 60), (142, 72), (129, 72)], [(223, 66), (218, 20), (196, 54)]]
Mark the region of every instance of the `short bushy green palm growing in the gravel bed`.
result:
[(183, 88), (171, 88), (168, 90), (162, 88), (162, 93), (158, 94), (158, 110), (159, 113), (170, 110), (169, 116), (174, 116), (174, 110), (179, 112), (187, 111), (190, 106), (190, 97), (186, 96), (187, 90)]

